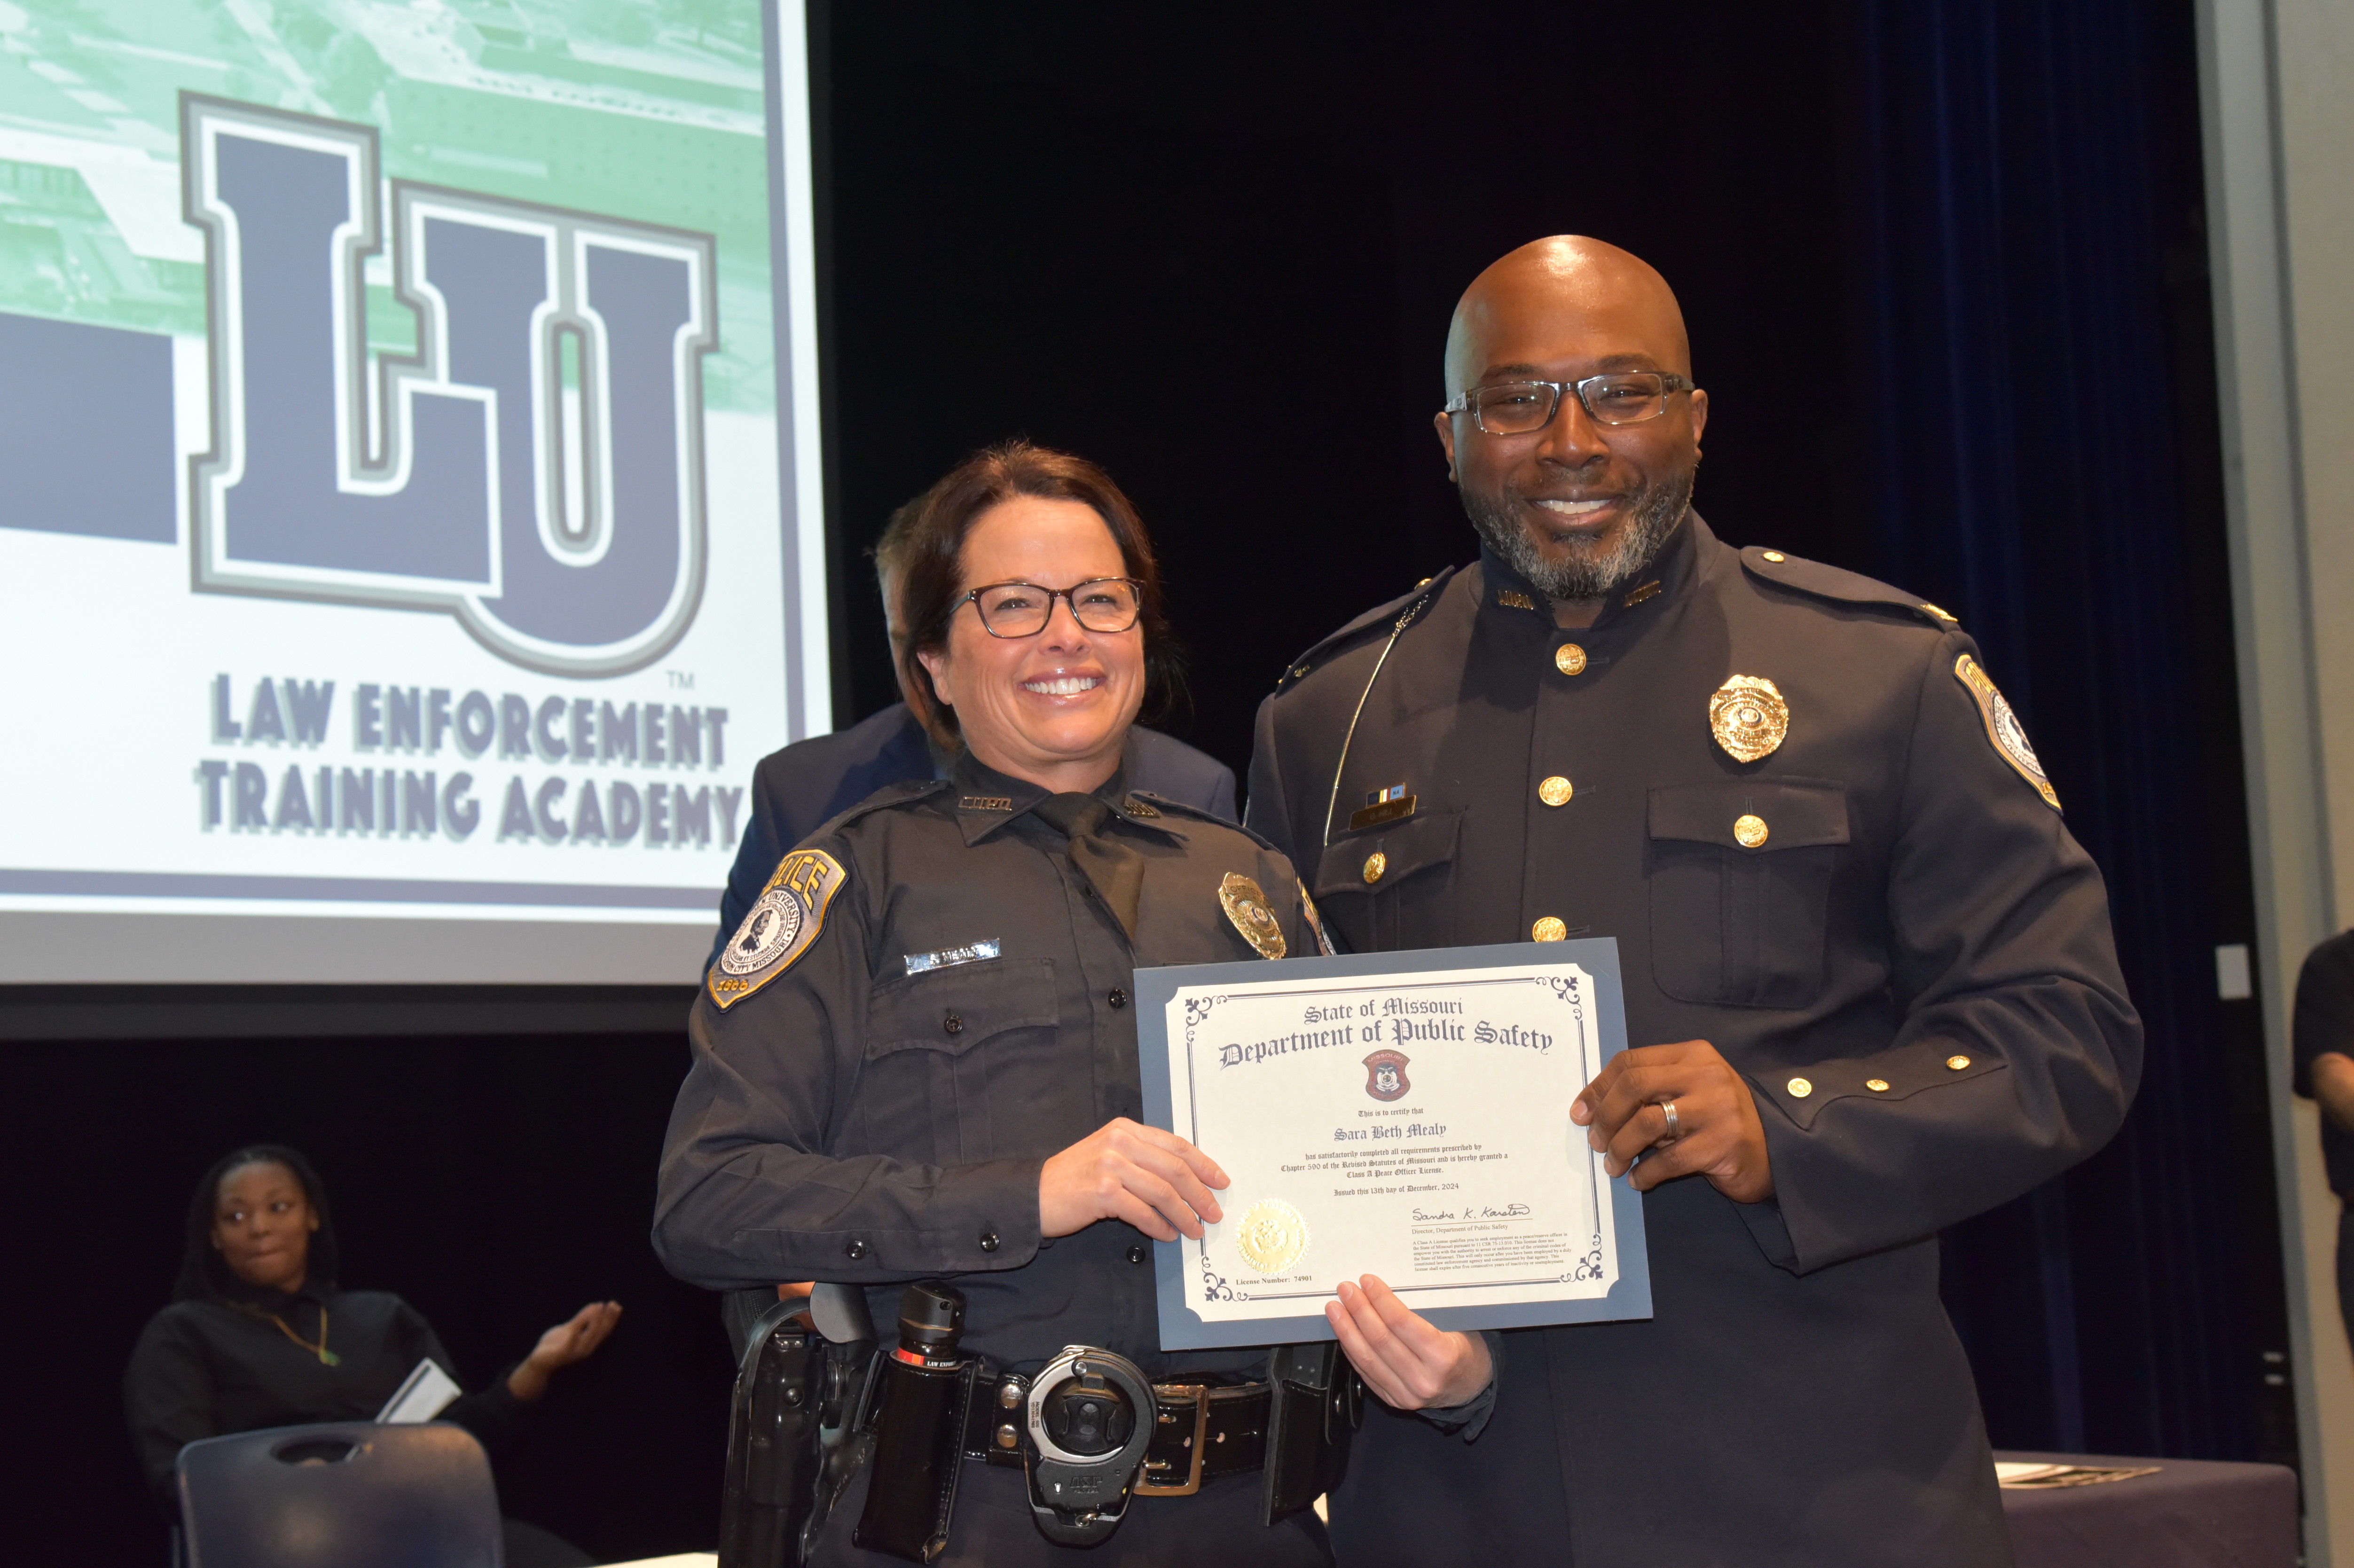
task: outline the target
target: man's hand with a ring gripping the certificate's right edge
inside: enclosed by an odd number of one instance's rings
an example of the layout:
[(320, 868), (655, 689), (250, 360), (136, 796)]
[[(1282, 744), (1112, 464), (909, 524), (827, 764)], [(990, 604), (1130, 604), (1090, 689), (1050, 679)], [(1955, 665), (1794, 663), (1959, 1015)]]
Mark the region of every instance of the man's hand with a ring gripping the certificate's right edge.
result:
[[(1667, 1099), (1676, 1104), (1671, 1140), (1662, 1107)], [(1570, 1121), (1587, 1128), (1591, 1149), (1608, 1154), (1603, 1168), (1610, 1175), (1624, 1175), (1634, 1165), (1636, 1191), (1700, 1172), (1735, 1203), (1763, 1203), (1773, 1196), (1766, 1123), (1758, 1121), (1756, 1099), (1707, 1041), (1617, 1052), (1570, 1102)], [(1653, 1156), (1636, 1165), (1645, 1149)]]

